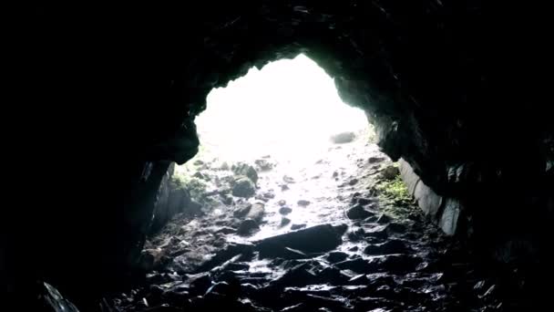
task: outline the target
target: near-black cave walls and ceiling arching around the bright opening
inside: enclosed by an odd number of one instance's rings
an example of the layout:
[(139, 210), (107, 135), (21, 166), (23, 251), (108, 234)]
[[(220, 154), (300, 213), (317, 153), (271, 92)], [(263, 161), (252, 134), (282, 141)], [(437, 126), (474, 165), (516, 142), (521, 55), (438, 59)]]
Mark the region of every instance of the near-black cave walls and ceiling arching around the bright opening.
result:
[[(19, 161), (45, 163), (47, 185), (6, 216), (6, 263), (71, 296), (84, 284), (103, 291), (137, 255), (169, 161), (196, 153), (192, 120), (210, 89), (301, 52), (370, 113), (387, 154), (461, 198), (479, 229), (512, 212), (533, 219), (553, 185), (541, 12), (430, 0), (32, 7), (15, 45), (32, 111), (21, 141), (47, 148)], [(45, 238), (33, 250), (20, 220)], [(48, 256), (36, 263), (36, 253)]]

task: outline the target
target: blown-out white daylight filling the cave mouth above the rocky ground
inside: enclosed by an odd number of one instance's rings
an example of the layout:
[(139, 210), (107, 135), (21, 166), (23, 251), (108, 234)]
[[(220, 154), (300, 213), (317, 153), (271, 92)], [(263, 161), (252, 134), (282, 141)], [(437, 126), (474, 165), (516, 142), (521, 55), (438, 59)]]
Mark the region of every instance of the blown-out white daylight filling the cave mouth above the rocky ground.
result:
[(220, 161), (265, 155), (312, 161), (329, 148), (333, 134), (368, 130), (364, 111), (344, 104), (333, 78), (304, 55), (251, 68), (227, 88), (214, 88), (195, 122), (198, 156)]

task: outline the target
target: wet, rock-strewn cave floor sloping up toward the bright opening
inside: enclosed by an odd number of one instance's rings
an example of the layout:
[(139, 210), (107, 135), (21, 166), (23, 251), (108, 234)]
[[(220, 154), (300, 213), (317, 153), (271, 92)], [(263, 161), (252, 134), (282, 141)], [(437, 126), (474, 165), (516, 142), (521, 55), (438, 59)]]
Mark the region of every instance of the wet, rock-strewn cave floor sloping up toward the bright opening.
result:
[[(104, 300), (105, 309), (503, 308), (498, 286), (456, 242), (413, 203), (384, 191), (397, 172), (374, 144), (330, 144), (320, 157), (303, 168), (265, 158), (250, 200), (213, 201), (200, 216), (178, 215), (147, 243), (145, 280)], [(214, 184), (232, 174), (202, 166)]]

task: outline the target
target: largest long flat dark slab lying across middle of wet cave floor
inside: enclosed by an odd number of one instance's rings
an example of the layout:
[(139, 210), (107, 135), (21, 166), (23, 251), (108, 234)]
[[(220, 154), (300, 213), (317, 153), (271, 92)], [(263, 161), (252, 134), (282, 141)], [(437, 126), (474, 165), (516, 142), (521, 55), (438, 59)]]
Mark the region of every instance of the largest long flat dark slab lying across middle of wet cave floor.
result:
[(260, 251), (262, 257), (282, 255), (285, 247), (303, 253), (324, 253), (342, 243), (341, 235), (331, 224), (322, 224), (265, 238), (256, 244), (256, 250)]

